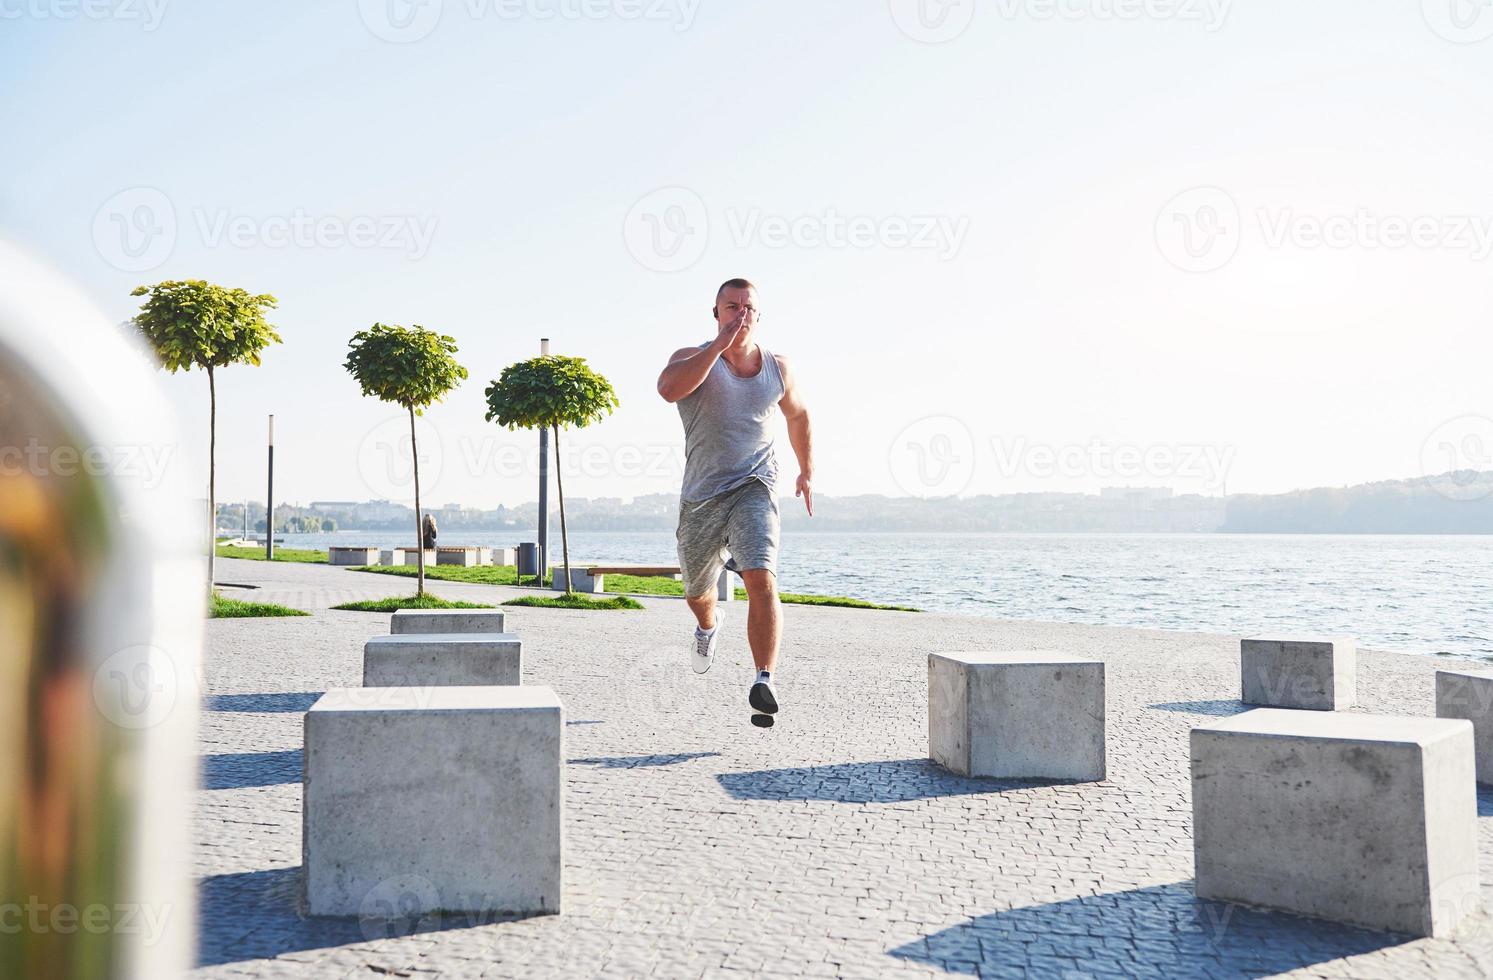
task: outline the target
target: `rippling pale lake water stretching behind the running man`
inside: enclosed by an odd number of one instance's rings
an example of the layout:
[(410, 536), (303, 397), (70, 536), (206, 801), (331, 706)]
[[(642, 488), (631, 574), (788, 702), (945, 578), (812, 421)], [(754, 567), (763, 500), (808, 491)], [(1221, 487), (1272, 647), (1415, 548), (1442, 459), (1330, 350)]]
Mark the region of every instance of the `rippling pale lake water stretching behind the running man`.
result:
[[(285, 547), (403, 544), (396, 532)], [(514, 532), (442, 535), (514, 545)], [(560, 535), (551, 536), (551, 563)], [(673, 532), (573, 532), (573, 560), (675, 563)], [(785, 533), (784, 592), (1017, 620), (1214, 633), (1341, 633), (1493, 659), (1493, 536)]]

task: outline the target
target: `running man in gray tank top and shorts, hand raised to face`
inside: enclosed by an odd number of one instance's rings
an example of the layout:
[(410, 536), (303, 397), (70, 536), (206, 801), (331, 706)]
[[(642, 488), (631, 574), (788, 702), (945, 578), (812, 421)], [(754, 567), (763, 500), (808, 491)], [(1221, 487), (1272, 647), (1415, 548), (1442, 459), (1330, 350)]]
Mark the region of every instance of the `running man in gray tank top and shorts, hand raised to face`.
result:
[[(711, 314), (715, 339), (679, 348), (658, 375), (658, 394), (676, 403), (684, 420), (684, 489), (675, 536), (685, 602), (699, 620), (694, 672), (705, 674), (715, 659), (721, 632), (715, 589), (721, 569), (727, 568), (746, 586), (746, 642), (755, 663), (746, 699), (755, 711), (772, 716), (778, 711), (772, 672), (782, 635), (773, 408), (782, 411), (788, 442), (799, 457), (794, 496), (803, 497), (812, 517), (809, 409), (788, 362), (754, 339), (761, 318), (757, 287), (746, 279), (730, 279), (715, 293)], [(757, 723), (770, 725), (772, 719)]]

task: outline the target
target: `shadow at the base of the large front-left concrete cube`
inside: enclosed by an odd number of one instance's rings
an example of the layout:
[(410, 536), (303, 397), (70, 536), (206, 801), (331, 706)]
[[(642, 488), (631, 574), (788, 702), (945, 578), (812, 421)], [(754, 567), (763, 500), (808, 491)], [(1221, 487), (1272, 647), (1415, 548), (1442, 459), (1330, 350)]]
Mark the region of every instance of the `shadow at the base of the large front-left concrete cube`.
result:
[[(302, 914), (300, 866), (218, 874), (197, 881), (200, 925), (197, 965), (216, 967), (246, 959), (270, 959), (285, 953), (372, 944), (417, 932), (470, 929), (524, 916), (437, 914), (402, 919), (346, 917), (312, 919)], [(500, 940), (494, 937), (494, 943)], [(403, 973), (423, 946), (367, 949), (370, 973)], [(408, 974), (406, 974), (408, 976)]]

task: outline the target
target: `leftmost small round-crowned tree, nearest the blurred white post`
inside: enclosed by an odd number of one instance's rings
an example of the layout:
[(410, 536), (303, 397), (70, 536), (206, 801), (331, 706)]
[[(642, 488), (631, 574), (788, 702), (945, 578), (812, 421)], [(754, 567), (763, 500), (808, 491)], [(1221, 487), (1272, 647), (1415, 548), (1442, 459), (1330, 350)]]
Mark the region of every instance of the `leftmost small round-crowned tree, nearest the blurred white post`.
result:
[(202, 368), (208, 372), (208, 595), (218, 557), (218, 384), (213, 370), (228, 365), (260, 363), (260, 353), (279, 344), (264, 311), (275, 309), (269, 293), (187, 279), (142, 285), (130, 296), (148, 297), (134, 315), (134, 326), (155, 348), (161, 366), (176, 373)]

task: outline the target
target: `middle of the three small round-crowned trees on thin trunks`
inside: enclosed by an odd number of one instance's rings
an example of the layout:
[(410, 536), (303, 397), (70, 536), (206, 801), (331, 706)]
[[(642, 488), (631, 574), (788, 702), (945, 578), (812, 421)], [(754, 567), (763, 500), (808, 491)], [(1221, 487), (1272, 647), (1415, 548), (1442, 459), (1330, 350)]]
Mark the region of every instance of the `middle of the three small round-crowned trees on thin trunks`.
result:
[(375, 323), (367, 330), (358, 330), (348, 341), (351, 351), (343, 365), (348, 373), (363, 385), (363, 394), (372, 394), (382, 402), (393, 402), (409, 412), (409, 451), (415, 466), (415, 545), (418, 586), (415, 595), (426, 595), (426, 548), (420, 521), (420, 447), (415, 442), (415, 415), (442, 400), (466, 376), (466, 368), (457, 363), (457, 342), (452, 338), (414, 327)]

